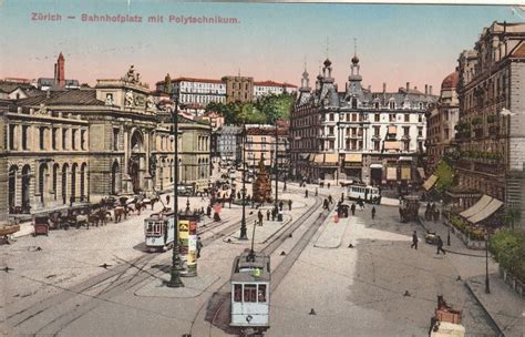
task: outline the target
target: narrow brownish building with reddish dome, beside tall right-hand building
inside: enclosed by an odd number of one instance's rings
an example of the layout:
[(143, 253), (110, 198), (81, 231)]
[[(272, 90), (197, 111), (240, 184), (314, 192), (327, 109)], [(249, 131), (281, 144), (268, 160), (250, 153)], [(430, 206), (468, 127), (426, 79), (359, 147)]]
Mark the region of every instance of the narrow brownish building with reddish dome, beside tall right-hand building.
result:
[(452, 151), (455, 125), (460, 119), (460, 101), (457, 100), (457, 71), (449, 74), (441, 83), (441, 95), (437, 104), (428, 113), (426, 127), (426, 168), (433, 172), (447, 151)]

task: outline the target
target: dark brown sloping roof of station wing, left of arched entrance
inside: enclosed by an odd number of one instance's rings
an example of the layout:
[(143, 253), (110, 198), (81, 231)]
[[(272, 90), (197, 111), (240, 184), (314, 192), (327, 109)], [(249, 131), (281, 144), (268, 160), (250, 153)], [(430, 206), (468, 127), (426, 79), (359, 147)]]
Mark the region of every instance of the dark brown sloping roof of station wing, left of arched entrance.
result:
[(89, 90), (64, 90), (50, 91), (48, 95), (38, 95), (20, 100), (20, 105), (104, 105), (103, 101), (96, 99), (96, 91)]

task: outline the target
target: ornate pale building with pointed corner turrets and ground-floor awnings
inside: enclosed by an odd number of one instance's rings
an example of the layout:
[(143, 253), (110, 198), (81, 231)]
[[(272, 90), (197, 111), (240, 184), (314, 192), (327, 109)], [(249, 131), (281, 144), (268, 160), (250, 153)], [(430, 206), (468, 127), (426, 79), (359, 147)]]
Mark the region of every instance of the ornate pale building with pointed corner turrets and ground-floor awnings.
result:
[[(363, 88), (359, 58), (340, 92), (327, 59), (311, 89), (305, 70), (290, 116), (292, 174), (309, 180), (367, 183), (419, 181), (432, 86), (372, 92)], [(416, 170), (420, 168), (420, 170)]]

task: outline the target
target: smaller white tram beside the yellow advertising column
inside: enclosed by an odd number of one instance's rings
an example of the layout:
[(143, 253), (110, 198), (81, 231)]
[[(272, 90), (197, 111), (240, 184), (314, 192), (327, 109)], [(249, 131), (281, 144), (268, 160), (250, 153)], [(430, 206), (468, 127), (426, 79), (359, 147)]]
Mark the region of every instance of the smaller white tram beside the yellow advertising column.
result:
[(148, 252), (165, 251), (173, 246), (174, 213), (155, 213), (144, 219), (145, 245)]

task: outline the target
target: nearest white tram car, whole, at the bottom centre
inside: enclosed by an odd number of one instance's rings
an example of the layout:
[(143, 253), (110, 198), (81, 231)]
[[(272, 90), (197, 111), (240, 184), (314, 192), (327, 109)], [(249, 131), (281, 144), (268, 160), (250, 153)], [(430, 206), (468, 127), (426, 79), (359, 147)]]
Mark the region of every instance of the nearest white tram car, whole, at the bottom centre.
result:
[(243, 253), (231, 269), (231, 321), (241, 335), (262, 334), (269, 328), (270, 257)]

